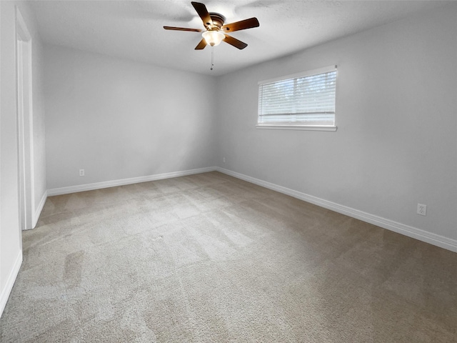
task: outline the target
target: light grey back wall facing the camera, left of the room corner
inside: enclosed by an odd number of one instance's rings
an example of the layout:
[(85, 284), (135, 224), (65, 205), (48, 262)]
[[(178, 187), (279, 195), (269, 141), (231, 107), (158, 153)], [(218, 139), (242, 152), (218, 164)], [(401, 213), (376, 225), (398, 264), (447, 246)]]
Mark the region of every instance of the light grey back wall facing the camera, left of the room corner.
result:
[(210, 76), (58, 46), (45, 66), (48, 189), (214, 166)]

